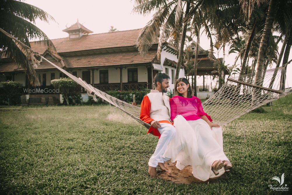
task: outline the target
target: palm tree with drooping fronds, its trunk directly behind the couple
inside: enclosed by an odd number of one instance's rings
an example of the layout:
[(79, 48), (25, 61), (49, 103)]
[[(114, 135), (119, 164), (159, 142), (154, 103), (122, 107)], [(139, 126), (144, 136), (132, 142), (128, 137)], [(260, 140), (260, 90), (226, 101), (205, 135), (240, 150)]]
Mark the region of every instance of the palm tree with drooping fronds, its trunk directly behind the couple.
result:
[(152, 44), (158, 41), (157, 58), (160, 58), (162, 44), (168, 39), (175, 40), (178, 48), (178, 65), (175, 71), (175, 79), (178, 78), (181, 64), (183, 62), (183, 49), (187, 28), (193, 13), (204, 0), (157, 0), (144, 1), (135, 0), (133, 11), (147, 14), (156, 11), (153, 18), (142, 29), (138, 37), (138, 50), (147, 53)]

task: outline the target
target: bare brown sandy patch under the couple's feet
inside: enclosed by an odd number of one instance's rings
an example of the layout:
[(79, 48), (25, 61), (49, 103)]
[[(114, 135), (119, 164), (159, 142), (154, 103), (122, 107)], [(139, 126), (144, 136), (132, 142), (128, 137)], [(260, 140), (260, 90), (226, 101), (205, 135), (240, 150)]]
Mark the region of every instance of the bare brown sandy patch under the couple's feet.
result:
[[(206, 182), (198, 180), (192, 174), (192, 167), (187, 166), (183, 170), (179, 170), (176, 168), (175, 163), (171, 163), (171, 161), (167, 161), (164, 163), (164, 166), (168, 168), (168, 172), (157, 170), (158, 178), (164, 179), (169, 182), (174, 182), (177, 184), (192, 184), (192, 183), (213, 183), (218, 180), (218, 178), (209, 179)], [(159, 169), (159, 168), (158, 168)], [(223, 174), (220, 178), (225, 178), (226, 176)]]

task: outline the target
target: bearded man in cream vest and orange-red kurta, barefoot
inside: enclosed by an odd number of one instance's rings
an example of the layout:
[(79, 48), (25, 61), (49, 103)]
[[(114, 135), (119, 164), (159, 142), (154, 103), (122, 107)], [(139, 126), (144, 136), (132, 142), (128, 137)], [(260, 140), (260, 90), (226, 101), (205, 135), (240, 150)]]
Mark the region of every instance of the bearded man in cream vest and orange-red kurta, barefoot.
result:
[(169, 79), (167, 74), (157, 73), (154, 77), (155, 90), (145, 95), (141, 102), (140, 119), (151, 125), (148, 133), (160, 136), (154, 154), (148, 162), (148, 173), (151, 177), (157, 177), (157, 165), (162, 170), (168, 171), (164, 162), (169, 159), (162, 156), (175, 135), (175, 128), (170, 120), (170, 98), (164, 94), (169, 87)]

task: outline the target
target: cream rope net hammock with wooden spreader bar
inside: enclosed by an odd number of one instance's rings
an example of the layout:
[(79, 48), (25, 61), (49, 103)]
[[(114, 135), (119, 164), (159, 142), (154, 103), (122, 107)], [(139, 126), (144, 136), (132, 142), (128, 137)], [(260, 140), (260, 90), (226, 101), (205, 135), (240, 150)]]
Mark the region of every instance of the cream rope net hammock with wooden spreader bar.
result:
[[(131, 105), (127, 102), (112, 97), (97, 88), (94, 88), (81, 78), (73, 76), (66, 70), (58, 67), (41, 56), (39, 53), (33, 51), (24, 43), (5, 32), (3, 29), (0, 28), (0, 31), (11, 37), (11, 39), (19, 43), (19, 46), (22, 49), (27, 51), (30, 54), (32, 62), (35, 66), (37, 66), (40, 61), (36, 60), (34, 56), (39, 56), (60, 70), (62, 73), (66, 74), (69, 78), (73, 79), (80, 86), (84, 87), (87, 94), (91, 95), (95, 101), (97, 100), (96, 96), (98, 96), (102, 100), (118, 107), (146, 128), (150, 128), (150, 124), (145, 123), (139, 118), (140, 107)], [(285, 68), (291, 61), (292, 60), (287, 62), (285, 65), (274, 69), (227, 79), (227, 82), (220, 88), (220, 90), (218, 90), (207, 101), (202, 103), (204, 111), (212, 116), (215, 123), (224, 126), (225, 124), (237, 119), (253, 109), (277, 100), (280, 97), (286, 96), (292, 92), (291, 88), (283, 87), (285, 86), (286, 81)]]

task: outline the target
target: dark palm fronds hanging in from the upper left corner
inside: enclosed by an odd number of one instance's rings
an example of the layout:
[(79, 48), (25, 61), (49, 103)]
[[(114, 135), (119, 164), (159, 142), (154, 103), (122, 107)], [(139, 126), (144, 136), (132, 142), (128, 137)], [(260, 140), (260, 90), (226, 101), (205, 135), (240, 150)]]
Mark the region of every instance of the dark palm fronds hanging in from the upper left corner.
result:
[[(37, 74), (30, 63), (30, 57), (26, 56), (22, 48), (13, 41), (8, 34), (20, 40), (30, 47), (30, 40), (42, 40), (40, 44), (45, 44), (53, 48), (53, 44), (48, 36), (34, 25), (36, 19), (48, 22), (53, 17), (44, 10), (21, 2), (20, 0), (1, 1), (0, 4), (0, 56), (6, 56), (19, 65), (27, 74), (32, 85), (39, 85)], [(6, 32), (8, 34), (6, 34)]]

